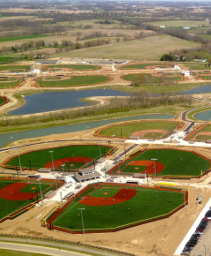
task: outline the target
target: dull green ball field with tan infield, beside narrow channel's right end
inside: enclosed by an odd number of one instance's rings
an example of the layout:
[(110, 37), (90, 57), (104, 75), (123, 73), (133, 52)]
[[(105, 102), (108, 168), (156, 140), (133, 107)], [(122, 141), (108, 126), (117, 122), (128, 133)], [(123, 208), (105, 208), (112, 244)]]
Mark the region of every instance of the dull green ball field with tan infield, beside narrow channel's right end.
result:
[[(127, 122), (125, 124), (113, 124), (106, 126), (95, 134), (97, 136), (128, 138), (130, 136), (138, 136), (144, 139), (166, 138), (170, 132), (176, 129), (178, 122), (169, 121), (141, 121)], [(155, 133), (155, 134), (154, 134)]]

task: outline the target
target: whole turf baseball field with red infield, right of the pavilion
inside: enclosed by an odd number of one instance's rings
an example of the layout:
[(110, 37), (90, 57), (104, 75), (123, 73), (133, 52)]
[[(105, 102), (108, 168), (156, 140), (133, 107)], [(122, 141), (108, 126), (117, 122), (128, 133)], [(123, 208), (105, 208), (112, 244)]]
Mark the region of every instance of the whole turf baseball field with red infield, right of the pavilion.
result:
[(155, 177), (156, 173), (156, 177), (191, 178), (206, 174), (210, 171), (210, 164), (210, 159), (194, 151), (154, 148), (132, 154), (109, 173), (123, 176), (144, 173), (149, 177)]

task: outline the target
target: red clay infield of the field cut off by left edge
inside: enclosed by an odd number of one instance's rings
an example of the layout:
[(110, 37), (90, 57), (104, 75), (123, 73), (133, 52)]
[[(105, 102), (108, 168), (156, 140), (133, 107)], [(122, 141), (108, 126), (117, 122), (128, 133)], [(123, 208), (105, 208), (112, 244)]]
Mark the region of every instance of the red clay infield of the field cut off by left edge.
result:
[(36, 197), (35, 193), (20, 192), (22, 188), (28, 185), (25, 182), (5, 185), (0, 190), (0, 198), (4, 200), (32, 200)]

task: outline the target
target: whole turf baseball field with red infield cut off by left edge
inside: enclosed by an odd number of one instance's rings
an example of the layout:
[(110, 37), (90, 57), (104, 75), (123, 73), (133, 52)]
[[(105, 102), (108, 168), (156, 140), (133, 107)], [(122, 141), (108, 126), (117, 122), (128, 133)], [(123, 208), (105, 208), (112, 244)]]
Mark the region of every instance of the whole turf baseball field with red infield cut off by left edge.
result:
[(62, 184), (55, 180), (0, 179), (0, 222), (24, 214), (41, 200), (41, 193), (44, 196)]

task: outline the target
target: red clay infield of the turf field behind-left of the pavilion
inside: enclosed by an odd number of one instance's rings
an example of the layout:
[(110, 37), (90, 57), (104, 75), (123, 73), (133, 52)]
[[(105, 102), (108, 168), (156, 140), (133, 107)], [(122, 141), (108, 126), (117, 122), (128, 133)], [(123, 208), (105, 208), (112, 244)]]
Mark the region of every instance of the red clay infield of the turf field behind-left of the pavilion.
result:
[[(66, 157), (66, 158), (61, 158), (61, 159), (57, 159), (54, 161), (54, 166), (55, 166), (55, 169), (59, 169), (59, 167), (66, 163), (66, 162), (84, 162), (85, 163), (88, 163), (88, 162), (91, 162), (93, 161), (93, 158), (90, 158), (90, 157), (83, 157), (83, 156), (80, 156), (80, 157)], [(72, 165), (71, 165), (72, 166)], [(47, 162), (47, 164), (45, 164), (44, 168), (53, 168), (52, 167), (52, 162)]]

